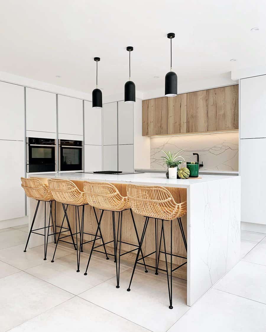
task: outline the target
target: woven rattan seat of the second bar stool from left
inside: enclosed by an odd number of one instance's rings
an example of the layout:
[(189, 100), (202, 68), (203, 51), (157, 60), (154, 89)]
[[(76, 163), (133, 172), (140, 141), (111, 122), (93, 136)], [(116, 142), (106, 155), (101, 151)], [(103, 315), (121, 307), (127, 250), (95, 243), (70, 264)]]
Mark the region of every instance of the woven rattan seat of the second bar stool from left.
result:
[(48, 185), (58, 202), (71, 205), (88, 204), (85, 194), (72, 181), (49, 179)]

